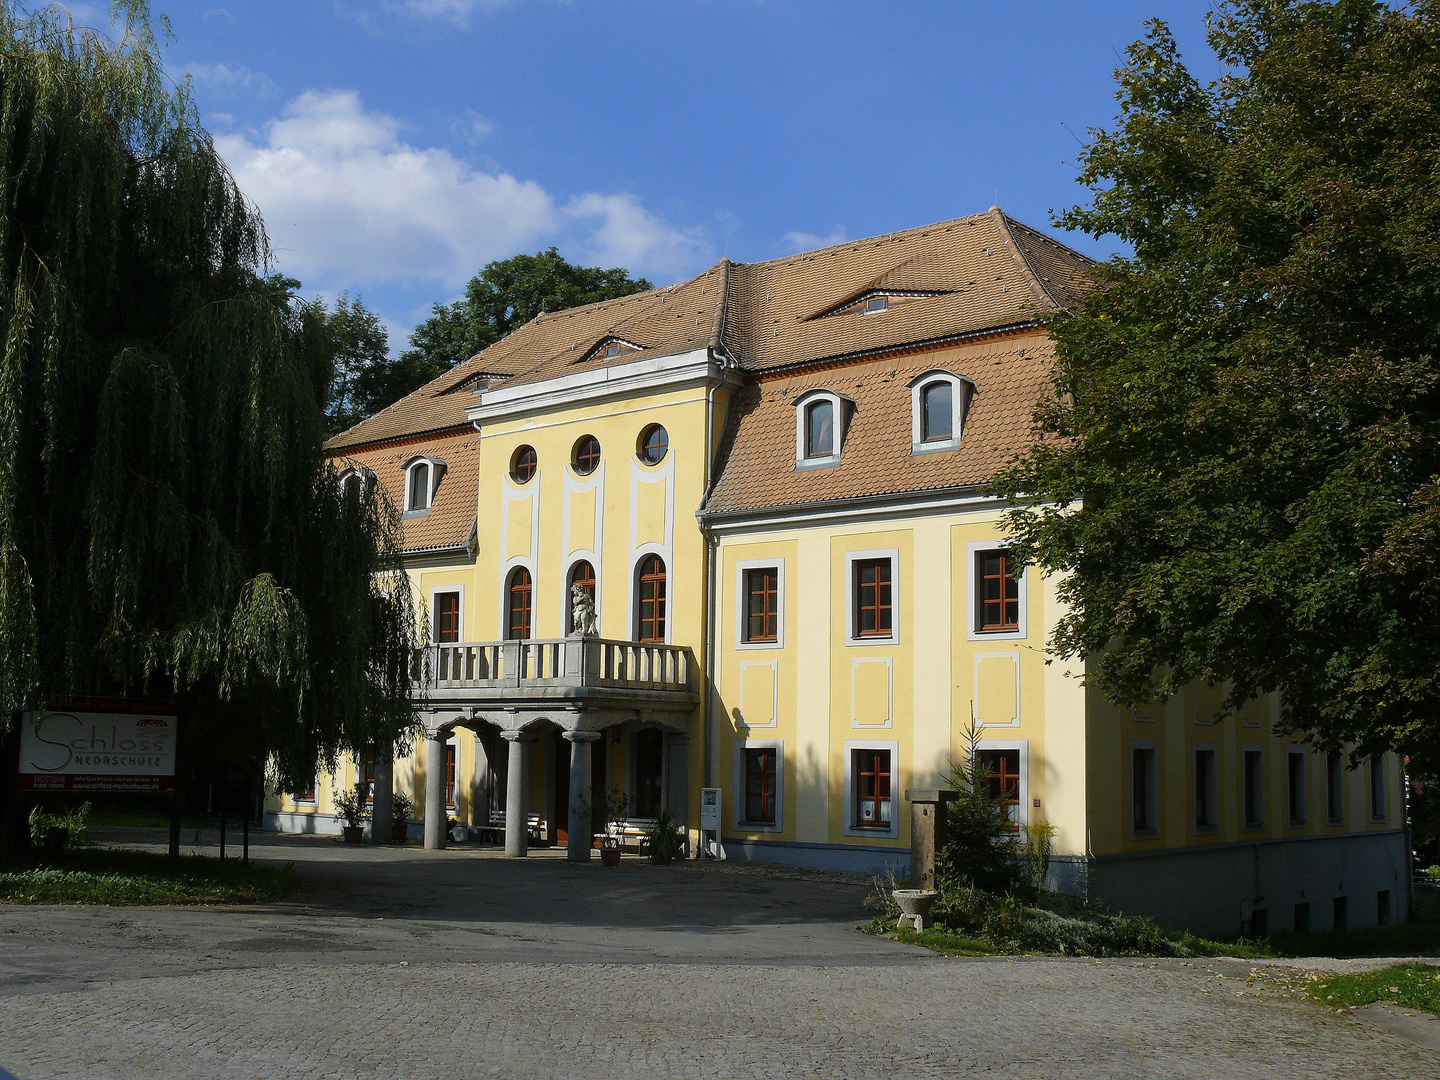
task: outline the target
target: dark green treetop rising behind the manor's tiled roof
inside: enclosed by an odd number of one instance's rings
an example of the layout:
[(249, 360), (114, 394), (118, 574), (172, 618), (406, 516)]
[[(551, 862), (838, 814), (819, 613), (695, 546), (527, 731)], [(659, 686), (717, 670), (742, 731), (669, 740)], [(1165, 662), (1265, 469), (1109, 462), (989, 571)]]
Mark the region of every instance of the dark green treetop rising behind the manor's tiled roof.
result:
[(461, 300), (431, 310), (431, 317), (410, 334), (410, 348), (400, 360), (413, 364), (416, 374), (431, 372), (428, 377), (433, 379), (543, 311), (564, 311), (651, 288), (645, 278), (631, 278), (619, 266), (575, 266), (554, 248), (490, 262), (469, 279)]

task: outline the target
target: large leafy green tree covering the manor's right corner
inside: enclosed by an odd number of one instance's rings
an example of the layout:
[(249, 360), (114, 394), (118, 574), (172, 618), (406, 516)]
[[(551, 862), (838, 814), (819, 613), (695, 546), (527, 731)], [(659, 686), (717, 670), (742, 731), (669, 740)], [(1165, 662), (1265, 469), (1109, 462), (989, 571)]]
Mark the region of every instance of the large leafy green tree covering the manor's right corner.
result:
[(1135, 704), (1269, 691), (1322, 747), (1440, 726), (1440, 9), (1237, 0), (1201, 85), (1151, 23), (1060, 222), (1132, 258), (1054, 320), (999, 481), (1053, 648)]

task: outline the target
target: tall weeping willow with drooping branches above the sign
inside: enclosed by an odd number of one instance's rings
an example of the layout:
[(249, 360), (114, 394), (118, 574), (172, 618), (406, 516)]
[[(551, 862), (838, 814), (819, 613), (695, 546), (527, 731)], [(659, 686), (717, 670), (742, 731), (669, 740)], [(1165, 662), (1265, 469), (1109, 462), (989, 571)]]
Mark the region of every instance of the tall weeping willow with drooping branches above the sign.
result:
[(173, 696), (292, 785), (410, 729), (397, 520), (321, 452), (323, 311), (114, 13), (0, 0), (0, 694)]

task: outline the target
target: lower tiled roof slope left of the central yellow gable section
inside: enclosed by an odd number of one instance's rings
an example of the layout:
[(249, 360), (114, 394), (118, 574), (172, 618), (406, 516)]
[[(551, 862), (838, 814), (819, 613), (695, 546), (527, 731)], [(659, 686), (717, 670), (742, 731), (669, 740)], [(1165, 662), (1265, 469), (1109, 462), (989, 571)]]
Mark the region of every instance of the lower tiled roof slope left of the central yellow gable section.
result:
[[(462, 416), (464, 419), (464, 416)], [(475, 500), (480, 484), (480, 432), (467, 431), (423, 441), (392, 442), (334, 456), (338, 469), (363, 468), (374, 472), (380, 491), (396, 508), (405, 505), (405, 464), (425, 455), (445, 462), (445, 475), (435, 488), (428, 514), (400, 521), (405, 552), (436, 547), (462, 547), (475, 527)]]

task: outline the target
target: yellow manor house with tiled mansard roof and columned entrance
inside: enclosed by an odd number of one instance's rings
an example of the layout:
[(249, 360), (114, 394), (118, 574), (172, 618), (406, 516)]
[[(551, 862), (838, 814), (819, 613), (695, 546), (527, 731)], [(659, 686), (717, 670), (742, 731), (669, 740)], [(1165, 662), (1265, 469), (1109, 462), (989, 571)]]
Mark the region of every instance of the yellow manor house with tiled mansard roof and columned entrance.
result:
[(1274, 701), (1215, 721), (1218, 688), (1119, 708), (1047, 664), (1056, 580), (1017, 570), (985, 485), (1092, 266), (998, 207), (721, 261), (543, 314), (334, 438), (402, 510), (425, 737), (268, 822), (336, 831), (366, 770), (428, 847), (454, 819), (585, 860), (606, 818), (668, 811), (694, 854), (708, 788), (727, 858), (904, 876), (904, 792), (946, 785), (973, 719), (1017, 835), (1058, 829), (1056, 888), (1207, 933), (1407, 917), (1392, 755), (1289, 744)]

